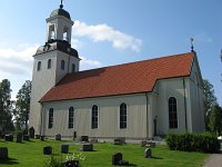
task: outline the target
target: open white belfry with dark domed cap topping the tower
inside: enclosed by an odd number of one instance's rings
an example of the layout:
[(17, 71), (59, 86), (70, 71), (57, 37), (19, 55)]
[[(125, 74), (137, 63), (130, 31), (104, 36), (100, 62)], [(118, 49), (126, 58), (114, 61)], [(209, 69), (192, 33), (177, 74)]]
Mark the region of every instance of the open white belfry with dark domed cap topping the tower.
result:
[(73, 21), (71, 20), (70, 13), (63, 9), (62, 0), (60, 8), (53, 10), (50, 18), (47, 19), (47, 42), (62, 40), (71, 45)]

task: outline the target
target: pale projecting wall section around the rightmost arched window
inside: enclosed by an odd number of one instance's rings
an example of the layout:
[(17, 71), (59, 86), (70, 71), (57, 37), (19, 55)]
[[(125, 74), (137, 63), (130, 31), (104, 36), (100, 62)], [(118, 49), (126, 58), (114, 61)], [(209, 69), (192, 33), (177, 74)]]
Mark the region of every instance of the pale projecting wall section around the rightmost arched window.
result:
[[(159, 80), (157, 86), (157, 109), (153, 110), (153, 119), (158, 116), (158, 134), (184, 132), (185, 131), (185, 104), (183, 78), (172, 78)], [(186, 91), (186, 90), (185, 90)], [(169, 128), (169, 106), (170, 97), (174, 97), (178, 102), (178, 128)]]

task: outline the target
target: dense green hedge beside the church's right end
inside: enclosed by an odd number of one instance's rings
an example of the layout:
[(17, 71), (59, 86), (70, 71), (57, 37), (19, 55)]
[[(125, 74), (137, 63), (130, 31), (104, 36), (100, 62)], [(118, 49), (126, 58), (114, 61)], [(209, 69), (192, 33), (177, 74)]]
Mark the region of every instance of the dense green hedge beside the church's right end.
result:
[(172, 150), (216, 153), (220, 143), (210, 132), (202, 134), (169, 134), (165, 141)]

